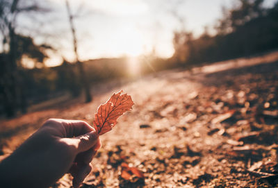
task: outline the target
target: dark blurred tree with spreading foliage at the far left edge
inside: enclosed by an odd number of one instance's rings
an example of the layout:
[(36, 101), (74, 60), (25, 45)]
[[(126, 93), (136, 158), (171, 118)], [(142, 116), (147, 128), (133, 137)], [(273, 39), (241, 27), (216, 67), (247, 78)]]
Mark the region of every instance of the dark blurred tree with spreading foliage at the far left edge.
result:
[(35, 45), (31, 37), (24, 37), (15, 31), (19, 15), (31, 12), (45, 11), (35, 1), (1, 0), (0, 31), (3, 37), (1, 94), (8, 117), (15, 115), (17, 108), (20, 108), (23, 113), (27, 108), (23, 87), (23, 70), (20, 67), (22, 55), (26, 54), (36, 60), (43, 60), (45, 57), (42, 52), (44, 46)]

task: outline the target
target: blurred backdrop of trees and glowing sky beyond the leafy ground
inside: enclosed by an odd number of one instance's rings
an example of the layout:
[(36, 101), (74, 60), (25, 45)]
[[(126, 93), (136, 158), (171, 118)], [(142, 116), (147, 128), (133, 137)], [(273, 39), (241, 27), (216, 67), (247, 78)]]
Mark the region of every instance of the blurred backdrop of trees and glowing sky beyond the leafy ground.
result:
[(93, 85), (277, 49), (275, 0), (1, 0), (0, 114)]

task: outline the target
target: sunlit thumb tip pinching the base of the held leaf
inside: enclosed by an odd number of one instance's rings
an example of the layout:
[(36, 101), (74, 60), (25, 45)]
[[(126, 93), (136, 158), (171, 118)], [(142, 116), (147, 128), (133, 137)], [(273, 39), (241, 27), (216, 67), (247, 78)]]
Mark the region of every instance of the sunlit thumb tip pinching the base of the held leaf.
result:
[(79, 137), (74, 137), (77, 140), (77, 151), (79, 153), (83, 151), (88, 151), (92, 146), (95, 146), (99, 140), (99, 135), (95, 130), (85, 135), (80, 135)]

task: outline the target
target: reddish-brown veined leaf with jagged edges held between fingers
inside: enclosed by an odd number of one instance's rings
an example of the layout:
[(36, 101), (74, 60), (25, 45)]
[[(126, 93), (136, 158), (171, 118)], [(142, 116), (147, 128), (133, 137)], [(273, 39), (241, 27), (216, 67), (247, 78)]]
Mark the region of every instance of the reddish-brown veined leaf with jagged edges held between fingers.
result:
[(117, 118), (124, 112), (131, 110), (133, 101), (128, 94), (122, 94), (122, 91), (113, 94), (104, 104), (100, 105), (93, 121), (95, 130), (99, 135), (110, 131), (117, 123)]

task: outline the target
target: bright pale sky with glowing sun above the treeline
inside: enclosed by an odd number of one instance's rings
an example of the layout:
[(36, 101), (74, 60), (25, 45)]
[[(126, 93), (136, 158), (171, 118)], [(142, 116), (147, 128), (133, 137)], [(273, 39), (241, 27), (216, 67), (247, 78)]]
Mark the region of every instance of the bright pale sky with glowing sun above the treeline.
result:
[[(21, 27), (20, 32), (34, 35), (38, 44), (47, 41), (57, 49), (49, 52), (47, 66), (59, 65), (62, 57), (72, 61), (72, 34), (65, 1), (44, 1), (51, 7), (47, 16), (37, 16), (44, 22), (22, 17), (19, 21), (26, 27)], [(275, 1), (265, 0), (265, 6), (272, 6)], [(233, 0), (70, 0), (72, 12), (78, 15), (74, 24), (81, 60), (137, 56), (153, 51), (169, 58), (174, 53), (174, 31), (185, 28), (197, 37), (205, 26), (213, 28), (223, 6), (229, 8), (234, 3)], [(32, 26), (32, 31), (28, 26)]]

